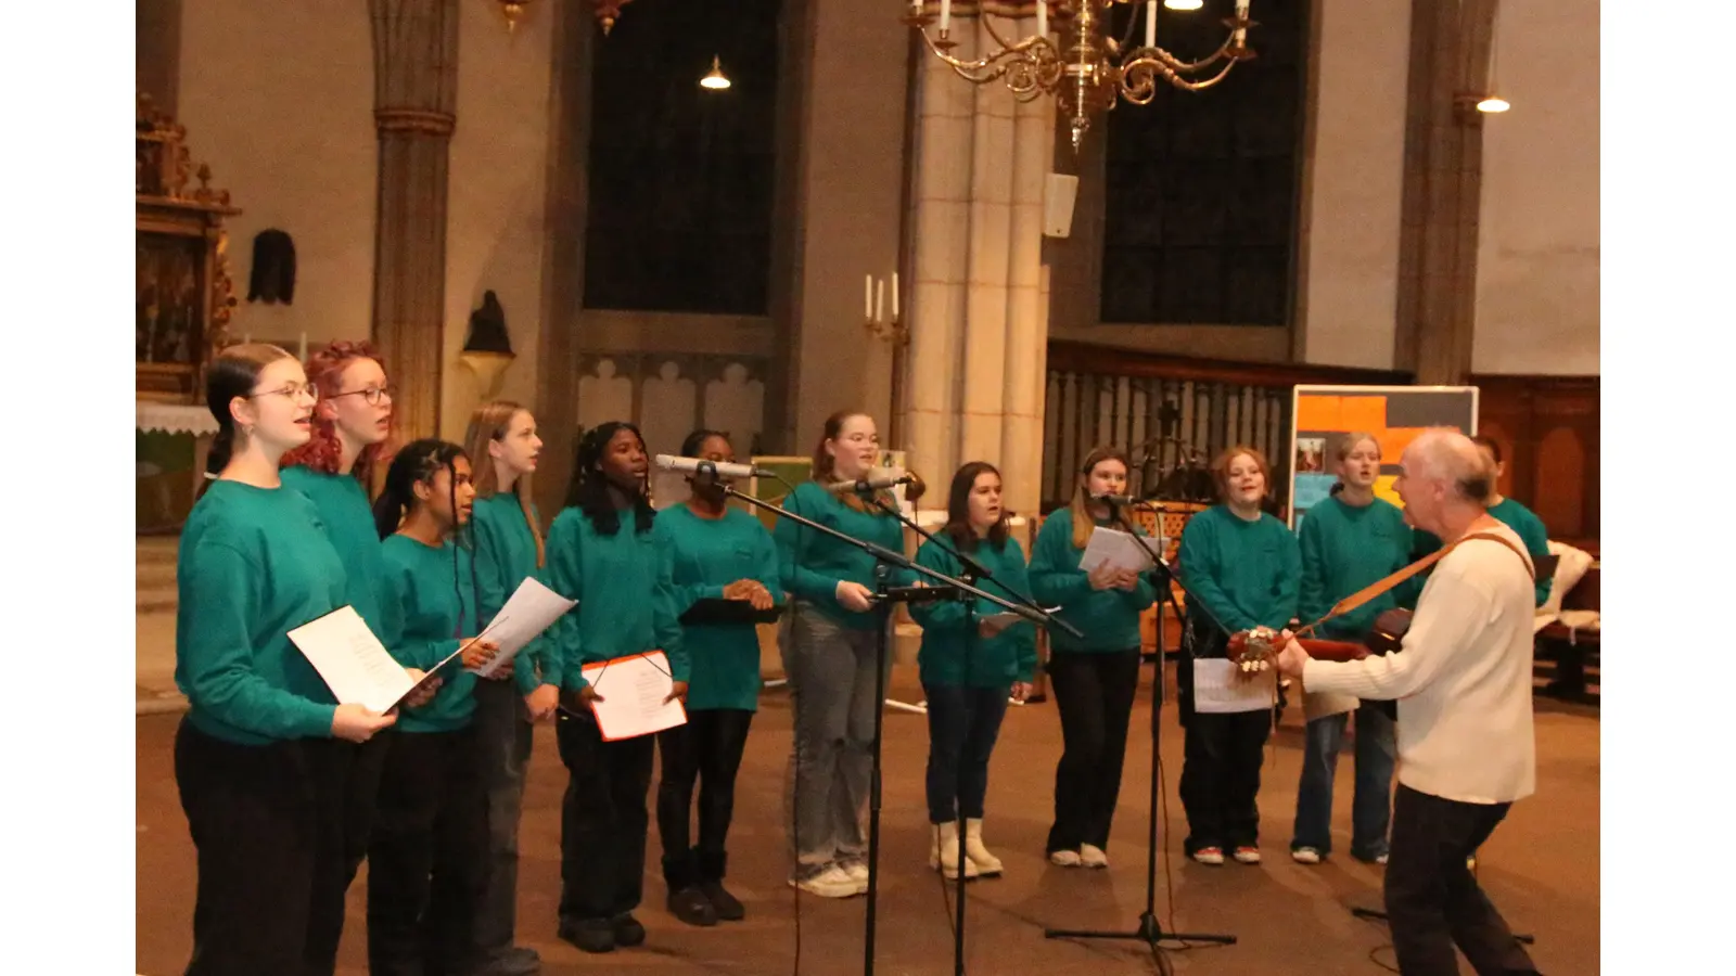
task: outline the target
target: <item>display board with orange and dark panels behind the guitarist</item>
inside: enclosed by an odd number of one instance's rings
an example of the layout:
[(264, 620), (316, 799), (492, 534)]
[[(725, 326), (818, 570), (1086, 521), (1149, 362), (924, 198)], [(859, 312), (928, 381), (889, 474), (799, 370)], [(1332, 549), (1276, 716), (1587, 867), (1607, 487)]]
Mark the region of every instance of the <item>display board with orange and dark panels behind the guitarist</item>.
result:
[(1392, 483), (1399, 457), (1429, 427), (1477, 432), (1474, 386), (1299, 386), (1290, 410), (1290, 528), (1332, 495), (1338, 443), (1352, 432), (1380, 441), (1375, 495), (1403, 507)]

